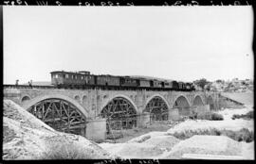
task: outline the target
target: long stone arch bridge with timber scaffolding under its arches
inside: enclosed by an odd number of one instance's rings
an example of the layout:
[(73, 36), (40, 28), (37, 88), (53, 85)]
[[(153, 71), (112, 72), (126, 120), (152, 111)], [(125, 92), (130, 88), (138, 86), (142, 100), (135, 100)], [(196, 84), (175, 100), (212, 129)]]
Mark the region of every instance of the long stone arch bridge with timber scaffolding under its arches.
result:
[[(54, 117), (55, 124), (74, 123), (72, 127), (56, 127), (63, 131), (81, 128), (77, 124), (85, 120), (95, 121), (99, 118), (119, 120), (125, 118), (122, 127), (144, 123), (144, 113), (153, 115), (151, 119), (173, 119), (174, 115), (187, 115), (192, 108), (207, 107), (218, 109), (219, 93), (206, 91), (155, 91), (155, 90), (60, 90), (60, 89), (9, 89), (4, 88), (4, 98), (8, 98), (29, 110), (38, 118), (50, 122), (51, 117), (41, 114), (47, 109)], [(198, 108), (199, 107), (199, 108)], [(176, 109), (176, 110), (175, 110)], [(48, 114), (47, 114), (48, 115)], [(133, 116), (136, 117), (133, 117)], [(116, 117), (117, 116), (117, 117)], [(111, 119), (110, 119), (111, 118)], [(142, 119), (141, 119), (142, 118)], [(128, 119), (128, 120), (127, 120)], [(62, 122), (62, 123), (61, 123)], [(92, 122), (93, 123), (93, 122)], [(105, 123), (106, 124), (106, 123)], [(109, 123), (108, 125), (110, 125)]]

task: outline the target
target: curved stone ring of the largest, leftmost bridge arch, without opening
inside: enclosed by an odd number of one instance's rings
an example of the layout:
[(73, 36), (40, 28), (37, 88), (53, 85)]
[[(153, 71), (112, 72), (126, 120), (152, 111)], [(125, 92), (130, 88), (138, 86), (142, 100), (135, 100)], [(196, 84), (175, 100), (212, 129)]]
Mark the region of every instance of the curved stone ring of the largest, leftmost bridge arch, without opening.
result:
[(39, 103), (41, 101), (44, 101), (46, 99), (62, 99), (64, 101), (72, 104), (74, 107), (76, 107), (82, 113), (82, 115), (85, 118), (89, 117), (88, 110), (83, 108), (76, 100), (74, 100), (74, 99), (72, 99), (72, 98), (70, 98), (68, 96), (62, 95), (62, 94), (50, 94), (50, 95), (38, 96), (38, 97), (35, 97), (35, 98), (31, 99), (27, 103), (25, 103), (23, 105), (23, 107), (25, 109), (28, 109), (29, 107), (32, 107), (32, 106), (36, 105), (37, 103)]

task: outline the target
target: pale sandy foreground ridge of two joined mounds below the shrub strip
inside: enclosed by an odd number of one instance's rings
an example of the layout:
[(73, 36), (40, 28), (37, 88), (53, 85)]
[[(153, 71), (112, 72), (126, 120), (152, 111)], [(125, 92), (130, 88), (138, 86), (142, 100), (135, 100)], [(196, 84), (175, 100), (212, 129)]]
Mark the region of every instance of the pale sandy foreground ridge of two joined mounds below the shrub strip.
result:
[(179, 140), (166, 134), (152, 132), (124, 143), (99, 145), (122, 158), (180, 159), (184, 154), (196, 154), (254, 159), (254, 142), (238, 142), (225, 136), (193, 136)]

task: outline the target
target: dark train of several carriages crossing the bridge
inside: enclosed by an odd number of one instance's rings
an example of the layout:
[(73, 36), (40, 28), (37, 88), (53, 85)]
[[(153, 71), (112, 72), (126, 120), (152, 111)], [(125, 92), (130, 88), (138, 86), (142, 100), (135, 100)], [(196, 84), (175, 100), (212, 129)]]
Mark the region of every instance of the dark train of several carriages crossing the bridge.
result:
[(91, 74), (88, 71), (80, 72), (51, 72), (51, 85), (64, 89), (149, 89), (149, 90), (195, 90), (190, 82), (175, 80), (159, 80), (155, 78), (120, 76), (110, 74)]

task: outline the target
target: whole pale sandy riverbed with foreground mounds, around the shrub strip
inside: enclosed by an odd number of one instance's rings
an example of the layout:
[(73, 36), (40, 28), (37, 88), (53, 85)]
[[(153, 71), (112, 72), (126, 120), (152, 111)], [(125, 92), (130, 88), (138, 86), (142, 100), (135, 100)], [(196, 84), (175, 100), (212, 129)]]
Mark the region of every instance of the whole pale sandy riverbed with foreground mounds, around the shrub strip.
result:
[[(100, 143), (99, 145), (115, 155), (124, 158), (181, 158), (183, 154), (241, 156), (244, 159), (254, 159), (254, 141), (238, 142), (225, 136), (193, 136), (190, 139), (179, 140), (172, 136), (174, 132), (202, 129), (229, 129), (240, 130), (248, 128), (254, 130), (253, 120), (232, 120), (233, 114), (246, 114), (252, 108), (225, 109), (219, 111), (224, 116), (224, 121), (187, 120), (173, 125), (167, 131), (152, 131), (138, 137), (130, 134), (133, 139), (123, 140), (123, 143)], [(158, 124), (159, 126), (159, 124)], [(156, 127), (156, 125), (155, 125)], [(140, 131), (139, 134), (146, 132)], [(138, 135), (138, 134), (137, 134)], [(171, 136), (170, 136), (171, 135)], [(171, 138), (169, 138), (171, 137)], [(131, 146), (132, 145), (132, 146)], [(151, 146), (147, 146), (151, 145)], [(137, 151), (139, 150), (139, 151)], [(151, 156), (147, 156), (151, 155)]]

